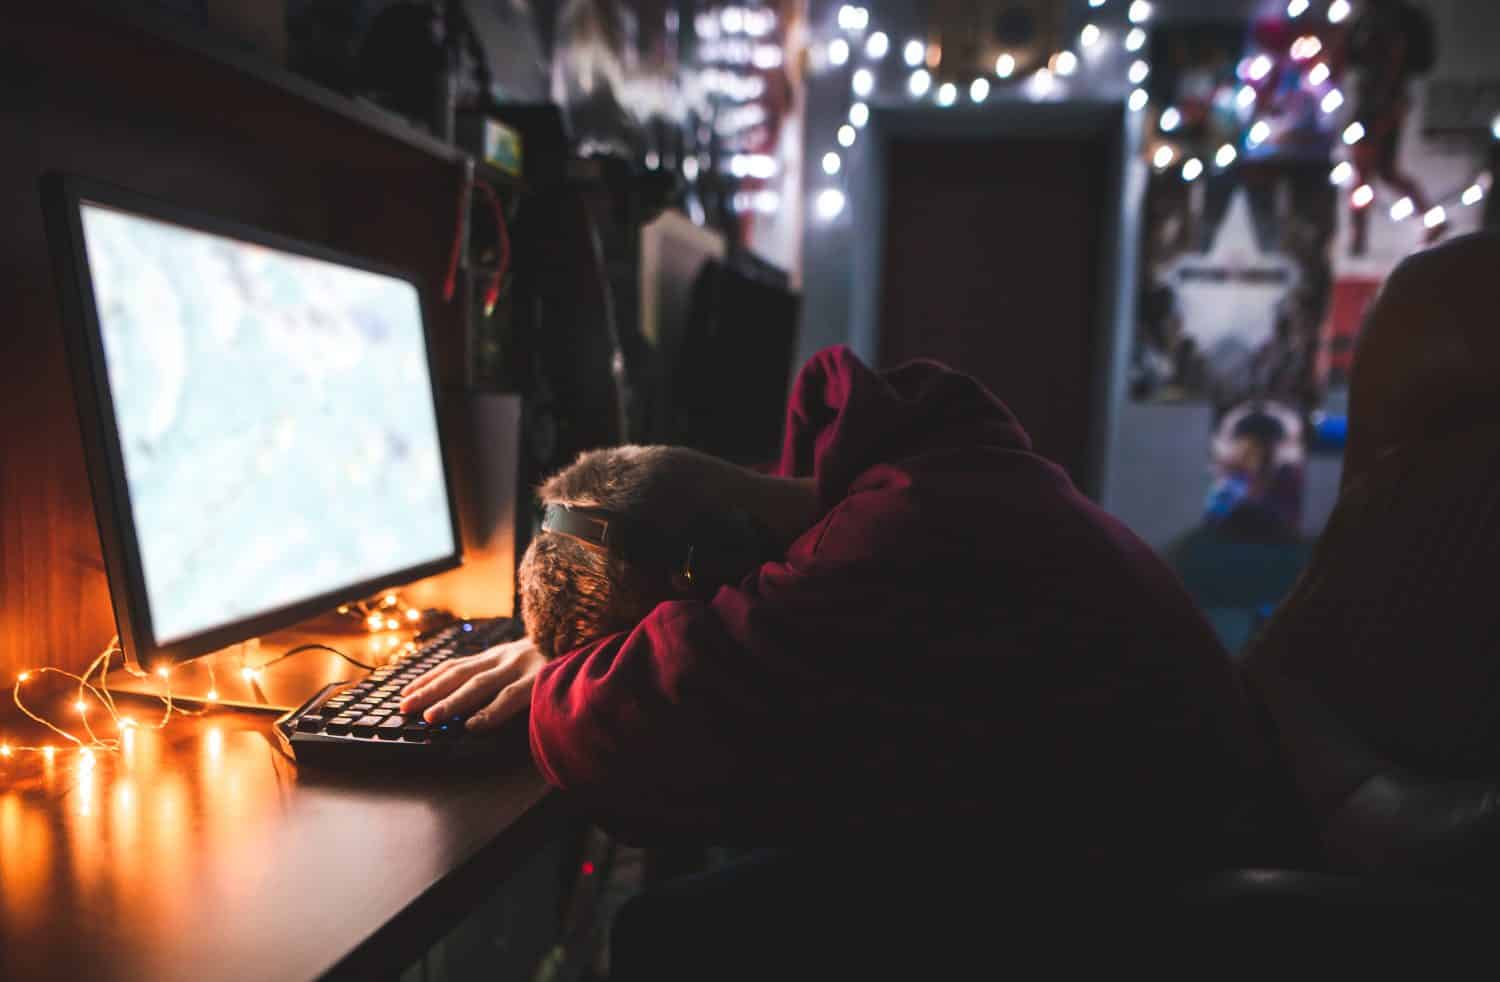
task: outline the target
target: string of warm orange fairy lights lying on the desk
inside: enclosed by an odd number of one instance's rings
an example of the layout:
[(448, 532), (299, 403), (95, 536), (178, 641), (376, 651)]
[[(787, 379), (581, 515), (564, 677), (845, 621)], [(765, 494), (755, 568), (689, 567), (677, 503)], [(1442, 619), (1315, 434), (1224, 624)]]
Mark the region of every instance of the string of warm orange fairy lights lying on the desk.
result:
[[(374, 636), (375, 648), (384, 649), (384, 654), (387, 655), (416, 651), (416, 642), (402, 640), (398, 633), (417, 628), (429, 618), (428, 612), (404, 603), (400, 594), (394, 591), (369, 600), (342, 604), (338, 607), (338, 613), (346, 618), (358, 619)], [(322, 646), (309, 645), (308, 648)], [(261, 679), (266, 669), (296, 651), (302, 649), (292, 649), (292, 652), (276, 655), (260, 664), (250, 664), (249, 658), (244, 657), (244, 648), (242, 646), (238, 658), (240, 676), (246, 682), (256, 682)], [(336, 649), (327, 651), (334, 651), (334, 654), (339, 654), (346, 661), (360, 667), (370, 667), (350, 658), (344, 652), (338, 652)], [(154, 721), (141, 721), (134, 715), (126, 715), (116, 703), (114, 693), (110, 691), (110, 667), (116, 655), (120, 655), (123, 663), (124, 651), (120, 648), (118, 637), (111, 639), (104, 651), (94, 657), (82, 673), (69, 672), (56, 666), (42, 666), (39, 669), (27, 669), (18, 673), (10, 687), (12, 702), (24, 717), (44, 727), (46, 732), (54, 735), (56, 739), (33, 745), (14, 744), (0, 738), (0, 760), (15, 757), (16, 754), (38, 754), (45, 759), (46, 763), (52, 763), (57, 753), (63, 750), (76, 753), (78, 766), (82, 774), (87, 774), (93, 771), (98, 754), (130, 750), (134, 735), (138, 730), (165, 729), (166, 724), (171, 723), (172, 717), (200, 717), (219, 702), (219, 684), (212, 658), (206, 661), (208, 669), (208, 688), (204, 693), (194, 696), (172, 691), (172, 670), (171, 666), (164, 664), (158, 666), (152, 673), (132, 670), (132, 673), (140, 675), (141, 678), (154, 675), (159, 681), (160, 691), (156, 697), (162, 705), (160, 718), (156, 718)], [(70, 684), (76, 685), (70, 703), (70, 709), (76, 714), (76, 724), (74, 724), (76, 729), (63, 726), (27, 705), (24, 699), (26, 688), (48, 675), (68, 679)], [(202, 709), (190, 709), (183, 705), (184, 700), (201, 703)], [(102, 718), (100, 712), (104, 714)], [(94, 729), (96, 720), (99, 721), (98, 730)]]

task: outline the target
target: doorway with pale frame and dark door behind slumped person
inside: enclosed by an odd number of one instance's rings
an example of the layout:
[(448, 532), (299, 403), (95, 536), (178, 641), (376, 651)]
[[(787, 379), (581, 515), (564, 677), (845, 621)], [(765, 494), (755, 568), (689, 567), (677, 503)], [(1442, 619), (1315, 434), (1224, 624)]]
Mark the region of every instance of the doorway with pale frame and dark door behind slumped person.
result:
[(1098, 496), (1116, 355), (1118, 108), (900, 109), (882, 123), (878, 282), (861, 285), (878, 363), (936, 358), (974, 375), (1038, 453)]

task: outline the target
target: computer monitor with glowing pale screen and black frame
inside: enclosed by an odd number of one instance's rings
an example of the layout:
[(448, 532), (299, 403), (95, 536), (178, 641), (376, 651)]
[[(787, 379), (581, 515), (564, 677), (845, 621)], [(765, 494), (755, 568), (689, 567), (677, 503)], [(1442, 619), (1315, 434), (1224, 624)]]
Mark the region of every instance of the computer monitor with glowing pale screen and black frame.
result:
[(129, 661), (460, 562), (412, 276), (80, 178), (44, 195)]

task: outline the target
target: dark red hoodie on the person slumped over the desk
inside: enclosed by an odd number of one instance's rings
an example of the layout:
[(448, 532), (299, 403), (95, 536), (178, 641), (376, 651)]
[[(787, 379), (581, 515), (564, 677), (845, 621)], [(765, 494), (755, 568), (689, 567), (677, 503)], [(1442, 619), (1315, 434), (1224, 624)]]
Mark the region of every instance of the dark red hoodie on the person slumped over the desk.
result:
[(993, 394), (822, 351), (777, 472), (825, 510), (783, 559), (542, 672), (550, 783), (636, 841), (974, 828), (1036, 858), (1222, 858), (1257, 759), (1232, 664)]

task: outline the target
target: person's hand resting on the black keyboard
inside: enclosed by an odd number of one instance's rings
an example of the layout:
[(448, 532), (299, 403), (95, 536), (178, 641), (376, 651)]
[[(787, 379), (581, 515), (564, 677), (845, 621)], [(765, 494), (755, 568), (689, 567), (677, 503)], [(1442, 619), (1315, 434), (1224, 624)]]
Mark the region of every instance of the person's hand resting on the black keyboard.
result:
[(468, 717), (466, 730), (492, 730), (531, 705), (531, 687), (548, 661), (531, 639), (453, 658), (400, 690), (400, 711), (428, 723)]

